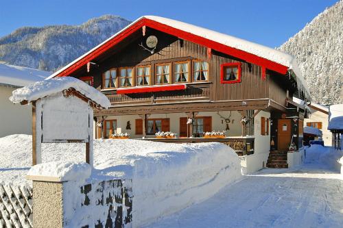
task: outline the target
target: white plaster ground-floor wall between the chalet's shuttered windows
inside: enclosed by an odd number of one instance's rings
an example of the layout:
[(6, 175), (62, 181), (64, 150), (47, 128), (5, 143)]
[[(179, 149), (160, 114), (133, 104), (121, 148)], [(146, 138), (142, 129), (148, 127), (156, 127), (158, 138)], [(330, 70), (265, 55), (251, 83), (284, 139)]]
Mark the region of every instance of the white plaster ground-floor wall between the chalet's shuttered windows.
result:
[[(228, 118), (230, 112), (220, 112), (220, 114)], [(225, 131), (226, 123), (224, 119), (217, 114), (217, 112), (199, 112), (197, 116), (212, 116), (212, 130), (213, 131)], [(185, 113), (171, 113), (171, 114), (151, 114), (148, 118), (169, 118), (170, 119), (170, 131), (180, 134), (180, 117), (187, 117)], [(136, 135), (136, 119), (141, 118), (138, 115), (126, 115), (126, 116), (107, 116), (105, 120), (116, 119), (117, 128), (121, 128), (121, 132), (130, 133), (130, 138), (141, 138), (142, 135)], [(241, 136), (241, 114), (237, 111), (232, 111), (230, 116), (229, 127), (230, 130), (226, 131), (226, 136)], [(127, 122), (130, 121), (131, 129), (126, 129)], [(155, 136), (147, 135), (147, 138), (155, 138)]]

